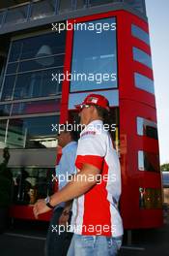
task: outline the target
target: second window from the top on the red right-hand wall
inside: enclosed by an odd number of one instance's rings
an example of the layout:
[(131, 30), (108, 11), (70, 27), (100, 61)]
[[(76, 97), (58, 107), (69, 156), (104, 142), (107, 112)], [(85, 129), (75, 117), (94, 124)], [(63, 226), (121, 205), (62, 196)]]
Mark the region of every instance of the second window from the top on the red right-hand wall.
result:
[(152, 69), (152, 57), (139, 48), (133, 48), (133, 59)]

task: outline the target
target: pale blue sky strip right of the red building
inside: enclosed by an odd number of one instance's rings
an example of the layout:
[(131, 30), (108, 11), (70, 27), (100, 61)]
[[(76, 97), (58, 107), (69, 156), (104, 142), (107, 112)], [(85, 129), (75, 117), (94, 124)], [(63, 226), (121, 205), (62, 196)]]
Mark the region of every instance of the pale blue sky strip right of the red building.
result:
[(169, 163), (169, 0), (146, 0), (151, 38), (160, 164)]

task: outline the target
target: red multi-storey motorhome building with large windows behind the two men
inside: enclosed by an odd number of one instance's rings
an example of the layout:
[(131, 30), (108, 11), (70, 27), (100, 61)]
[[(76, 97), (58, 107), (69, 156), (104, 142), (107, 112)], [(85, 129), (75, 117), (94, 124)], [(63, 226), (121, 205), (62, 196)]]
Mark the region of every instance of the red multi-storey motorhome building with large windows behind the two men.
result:
[(52, 192), (56, 127), (73, 120), (74, 104), (97, 92), (108, 98), (116, 127), (124, 226), (160, 226), (161, 175), (145, 1), (14, 3), (0, 4), (0, 151), (10, 147), (12, 215), (32, 218), (27, 205)]

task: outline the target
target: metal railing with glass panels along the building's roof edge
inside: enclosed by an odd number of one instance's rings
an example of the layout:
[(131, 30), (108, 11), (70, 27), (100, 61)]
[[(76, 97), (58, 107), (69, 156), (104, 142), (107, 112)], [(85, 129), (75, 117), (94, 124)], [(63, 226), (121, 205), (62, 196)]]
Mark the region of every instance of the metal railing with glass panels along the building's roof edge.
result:
[(99, 0), (98, 3), (96, 0), (71, 0), (70, 3), (66, 1), (64, 5), (63, 2), (61, 4), (61, 0), (34, 0), (0, 10), (0, 29), (46, 16), (57, 16), (63, 12), (119, 2), (126, 3), (146, 15), (145, 0)]

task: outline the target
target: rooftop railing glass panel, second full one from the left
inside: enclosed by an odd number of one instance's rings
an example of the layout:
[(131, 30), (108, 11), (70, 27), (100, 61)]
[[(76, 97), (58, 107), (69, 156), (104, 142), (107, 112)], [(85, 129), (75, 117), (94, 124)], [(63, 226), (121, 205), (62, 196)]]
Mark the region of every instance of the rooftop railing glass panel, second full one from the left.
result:
[(42, 0), (32, 4), (31, 19), (38, 19), (45, 16), (52, 16), (55, 12), (56, 0)]

